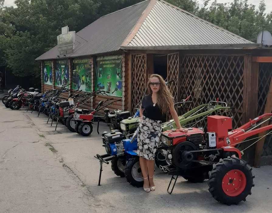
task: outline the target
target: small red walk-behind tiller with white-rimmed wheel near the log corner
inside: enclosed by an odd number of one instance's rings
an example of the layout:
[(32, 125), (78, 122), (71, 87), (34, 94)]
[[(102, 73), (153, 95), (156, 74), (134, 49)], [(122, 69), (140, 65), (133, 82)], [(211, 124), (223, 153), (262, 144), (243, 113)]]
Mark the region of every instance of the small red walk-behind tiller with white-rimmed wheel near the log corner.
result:
[[(98, 123), (97, 123), (97, 133), (99, 134), (99, 121), (100, 121), (100, 117), (104, 117), (104, 116), (97, 116), (95, 115), (95, 113), (98, 110), (101, 110), (102, 108), (105, 108), (106, 106), (111, 105), (112, 103), (115, 103), (117, 101), (121, 101), (121, 100), (115, 100), (112, 101), (110, 103), (107, 103), (107, 101), (111, 101), (113, 99), (107, 99), (105, 102), (100, 101), (98, 103), (98, 106), (90, 113), (90, 114), (74, 114), (74, 120), (76, 121), (76, 126), (78, 128), (78, 133), (81, 134), (82, 136), (88, 136), (92, 133), (93, 127), (92, 127), (92, 120), (94, 118), (98, 118)], [(102, 105), (103, 103), (106, 103), (106, 105)]]

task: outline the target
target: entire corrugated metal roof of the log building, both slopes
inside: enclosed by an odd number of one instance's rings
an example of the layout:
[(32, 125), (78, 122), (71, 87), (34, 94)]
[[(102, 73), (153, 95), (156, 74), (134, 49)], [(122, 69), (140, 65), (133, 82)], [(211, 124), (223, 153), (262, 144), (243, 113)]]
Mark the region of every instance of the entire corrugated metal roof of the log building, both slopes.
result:
[[(235, 35), (219, 26), (209, 23), (191, 13), (170, 5), (163, 0), (146, 0), (136, 5), (102, 16), (95, 22), (76, 33), (76, 48), (66, 57), (80, 57), (109, 53), (122, 49), (145, 49), (147, 47), (194, 47), (198, 45), (211, 48), (215, 45), (222, 48), (229, 44), (235, 45), (255, 44), (238, 35)], [(140, 17), (150, 3), (150, 10), (146, 18)], [(152, 7), (153, 5), (153, 7)], [(152, 8), (151, 8), (152, 7)], [(137, 31), (135, 27), (139, 22), (141, 26)], [(138, 28), (137, 28), (138, 29)], [(133, 36), (132, 40), (128, 35)], [(127, 44), (127, 45), (125, 45)], [(219, 46), (218, 46), (219, 45)], [(240, 47), (239, 48), (243, 48)], [(59, 55), (57, 47), (53, 47), (36, 60), (64, 58)]]

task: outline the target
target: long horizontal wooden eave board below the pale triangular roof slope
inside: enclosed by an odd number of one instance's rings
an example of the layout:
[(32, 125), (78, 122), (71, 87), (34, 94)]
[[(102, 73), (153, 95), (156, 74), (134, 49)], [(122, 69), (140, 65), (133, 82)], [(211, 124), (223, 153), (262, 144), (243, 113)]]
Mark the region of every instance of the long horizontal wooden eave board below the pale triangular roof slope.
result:
[(199, 44), (173, 46), (121, 46), (122, 50), (222, 50), (222, 49), (257, 49), (262, 44)]

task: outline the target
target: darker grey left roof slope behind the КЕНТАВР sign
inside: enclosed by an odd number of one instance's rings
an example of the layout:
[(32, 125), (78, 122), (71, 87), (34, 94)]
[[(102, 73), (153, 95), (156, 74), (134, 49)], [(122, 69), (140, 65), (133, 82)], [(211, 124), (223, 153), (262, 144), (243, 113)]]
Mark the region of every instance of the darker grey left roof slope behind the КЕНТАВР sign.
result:
[[(121, 9), (102, 16), (95, 22), (76, 33), (76, 40), (80, 40), (76, 50), (66, 57), (79, 57), (105, 52), (118, 51), (121, 44), (138, 22), (150, 0)], [(58, 58), (57, 47), (53, 47), (36, 60)], [(63, 56), (60, 56), (62, 58)]]

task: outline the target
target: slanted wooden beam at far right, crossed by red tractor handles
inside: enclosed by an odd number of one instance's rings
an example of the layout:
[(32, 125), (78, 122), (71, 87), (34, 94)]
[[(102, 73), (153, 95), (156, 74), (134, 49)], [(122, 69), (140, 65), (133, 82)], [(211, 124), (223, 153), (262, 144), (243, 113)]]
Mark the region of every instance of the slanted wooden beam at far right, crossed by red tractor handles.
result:
[[(265, 104), (264, 113), (271, 113), (271, 111), (272, 111), (272, 78), (270, 81), (270, 87), (269, 87), (269, 91), (267, 94), (267, 101)], [(261, 125), (261, 127), (267, 126), (268, 123), (269, 123), (269, 121), (263, 123)], [(266, 134), (266, 132), (262, 132), (259, 134), (259, 136), (263, 136), (265, 134)], [(263, 144), (264, 144), (265, 138), (266, 137), (263, 137), (260, 141), (257, 142), (256, 149), (255, 149), (255, 160), (254, 160), (255, 167), (260, 167), (260, 159), (261, 159), (261, 155), (263, 153)]]

